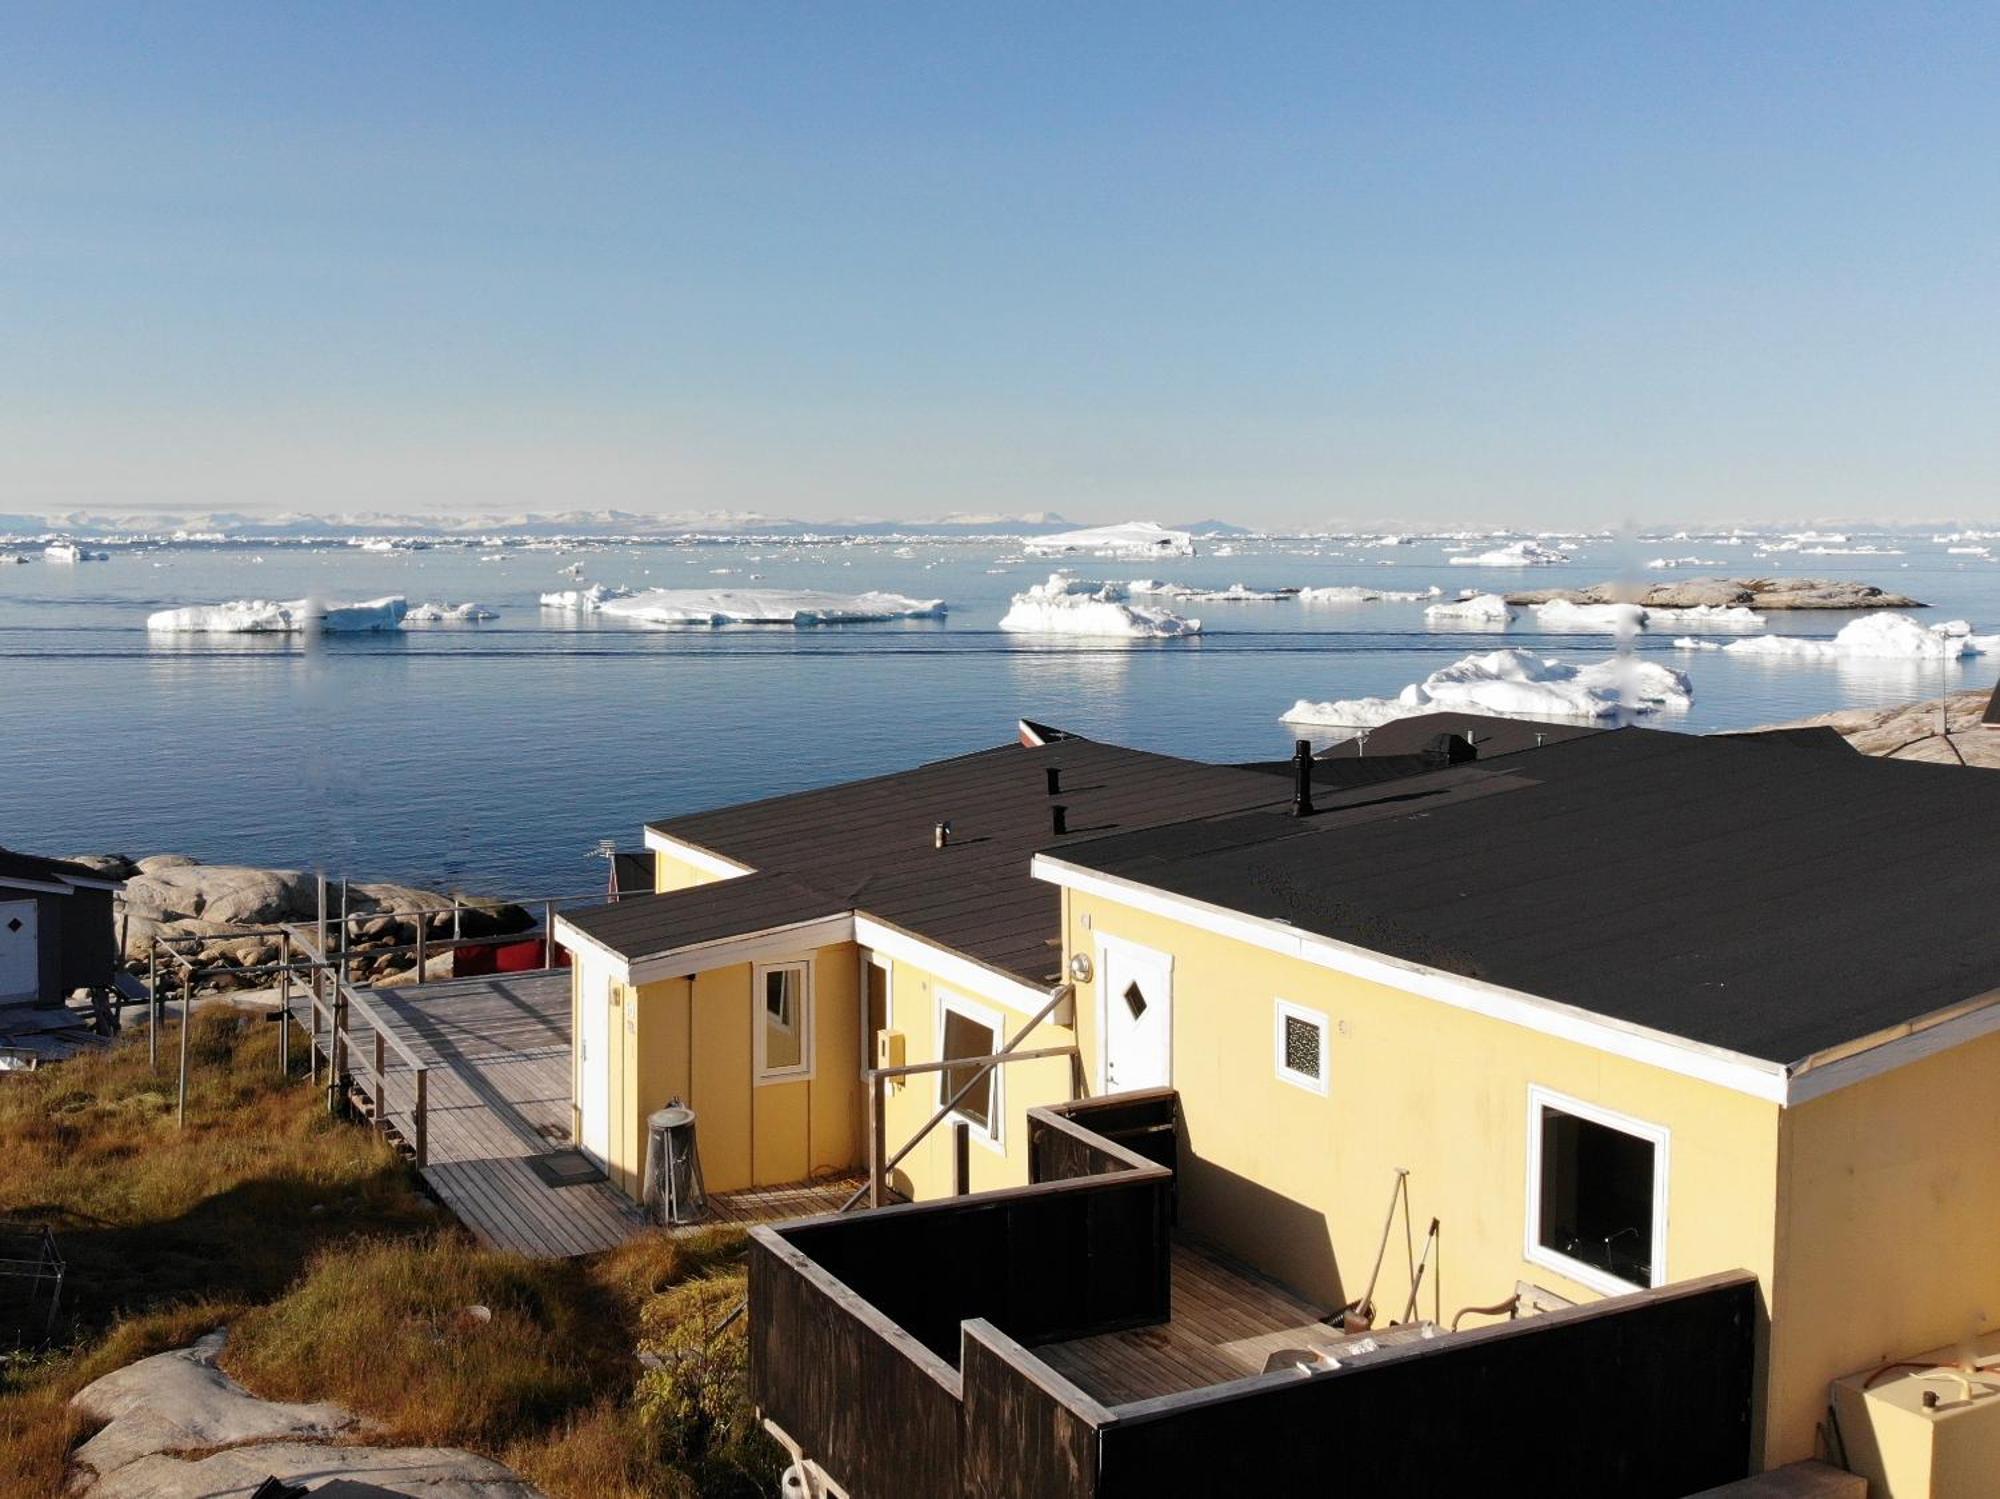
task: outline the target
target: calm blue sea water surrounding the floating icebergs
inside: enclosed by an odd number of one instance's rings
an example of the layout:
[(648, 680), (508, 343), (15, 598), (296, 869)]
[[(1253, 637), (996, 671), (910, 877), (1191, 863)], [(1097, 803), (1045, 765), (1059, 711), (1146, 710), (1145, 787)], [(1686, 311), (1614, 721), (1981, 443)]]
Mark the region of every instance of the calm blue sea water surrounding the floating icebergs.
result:
[[(1666, 580), (1676, 574), (1640, 564), (1688, 554), (1728, 566), (1680, 576), (1854, 578), (1934, 606), (1918, 618), (2000, 630), (2000, 562), (1952, 556), (1928, 534), (1850, 532), (1850, 544), (1904, 552), (1758, 558), (1754, 546), (1718, 552), (1712, 542), (1584, 542), (1564, 566), (1490, 570), (1448, 566), (1438, 542), (1234, 542), (1232, 556), (1208, 544), (1194, 560), (1070, 566), (1214, 588), (1440, 586), (1450, 596), (1622, 572)], [(540, 610), (542, 592), (574, 586), (558, 576), (568, 564), (632, 588), (882, 588), (944, 598), (952, 614), (648, 630)], [(636, 847), (650, 817), (1002, 744), (1024, 716), (1184, 755), (1274, 757), (1294, 738), (1278, 714), (1302, 696), (1394, 694), (1500, 646), (1566, 662), (1612, 650), (1608, 636), (1552, 634), (1532, 616), (1504, 636), (1430, 630), (1422, 604), (1172, 604), (1202, 618), (1206, 634), (1132, 646), (998, 632), (1008, 598), (1050, 566), (990, 540), (610, 544), (498, 560), (462, 546), (182, 544), (114, 548), (110, 562), (80, 566), (0, 566), (0, 843), (172, 849), (518, 895), (584, 891), (604, 877), (590, 857), (600, 837)], [(146, 634), (152, 610), (306, 594), (478, 600), (502, 618), (314, 642)], [(1832, 636), (1848, 618), (1774, 614), (1770, 630)], [(1732, 660), (1676, 652), (1676, 634), (1636, 644), (1694, 680), (1692, 712), (1646, 720), (1660, 728), (1746, 728), (1940, 686), (1936, 664)], [(1944, 672), (1952, 688), (1988, 686), (2000, 658)]]

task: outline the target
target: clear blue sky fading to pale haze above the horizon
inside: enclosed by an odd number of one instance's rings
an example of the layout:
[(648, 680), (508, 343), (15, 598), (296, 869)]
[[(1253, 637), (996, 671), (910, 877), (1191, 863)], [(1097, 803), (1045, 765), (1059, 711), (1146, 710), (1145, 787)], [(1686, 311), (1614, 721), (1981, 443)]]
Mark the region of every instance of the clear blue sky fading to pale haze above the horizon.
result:
[(0, 512), (2000, 514), (2000, 8), (0, 10)]

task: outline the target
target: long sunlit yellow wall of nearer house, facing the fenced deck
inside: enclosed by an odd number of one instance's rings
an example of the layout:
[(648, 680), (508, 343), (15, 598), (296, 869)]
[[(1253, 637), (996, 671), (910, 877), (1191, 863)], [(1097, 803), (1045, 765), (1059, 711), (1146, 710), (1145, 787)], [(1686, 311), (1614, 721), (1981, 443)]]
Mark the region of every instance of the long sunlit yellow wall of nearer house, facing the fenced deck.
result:
[[(1174, 955), (1182, 1223), (1306, 1295), (1362, 1295), (1394, 1167), (1408, 1167), (1416, 1235), (1442, 1223), (1426, 1313), (1432, 1287), (1446, 1319), (1516, 1281), (1596, 1299), (1526, 1259), (1532, 1083), (1672, 1131), (1668, 1279), (1742, 1267), (1770, 1285), (1778, 1105), (1074, 891), (1066, 927), (1068, 951), (1096, 957), (1096, 937), (1114, 935)], [(1278, 997), (1330, 1021), (1324, 1097), (1276, 1075)], [(1094, 1077), (1094, 983), (1076, 1009)], [(1398, 1313), (1402, 1233), (1398, 1219), (1376, 1287)]]

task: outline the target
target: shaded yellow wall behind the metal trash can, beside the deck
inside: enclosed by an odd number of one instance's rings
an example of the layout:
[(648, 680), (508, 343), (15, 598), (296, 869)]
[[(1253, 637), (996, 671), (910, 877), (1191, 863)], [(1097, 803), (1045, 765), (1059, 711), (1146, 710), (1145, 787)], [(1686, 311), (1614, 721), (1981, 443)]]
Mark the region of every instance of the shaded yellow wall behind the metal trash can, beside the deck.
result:
[(774, 1187), (860, 1163), (856, 949), (812, 953), (812, 1077), (756, 1081), (752, 965), (612, 985), (612, 1179), (638, 1193), (646, 1115), (680, 1097), (696, 1113), (710, 1191)]

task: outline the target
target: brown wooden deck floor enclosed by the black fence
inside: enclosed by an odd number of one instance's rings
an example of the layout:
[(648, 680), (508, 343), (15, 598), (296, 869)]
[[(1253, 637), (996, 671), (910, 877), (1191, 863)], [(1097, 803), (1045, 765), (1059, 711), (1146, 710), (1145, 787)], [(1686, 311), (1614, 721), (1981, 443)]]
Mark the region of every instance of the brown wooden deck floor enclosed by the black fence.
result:
[(1174, 1315), (1160, 1327), (1044, 1343), (1034, 1353), (1106, 1405), (1264, 1373), (1278, 1349), (1336, 1343), (1338, 1327), (1276, 1281), (1198, 1243), (1174, 1243)]

